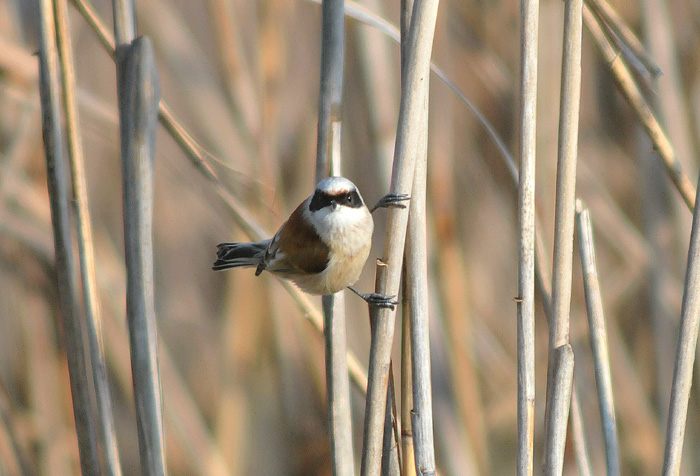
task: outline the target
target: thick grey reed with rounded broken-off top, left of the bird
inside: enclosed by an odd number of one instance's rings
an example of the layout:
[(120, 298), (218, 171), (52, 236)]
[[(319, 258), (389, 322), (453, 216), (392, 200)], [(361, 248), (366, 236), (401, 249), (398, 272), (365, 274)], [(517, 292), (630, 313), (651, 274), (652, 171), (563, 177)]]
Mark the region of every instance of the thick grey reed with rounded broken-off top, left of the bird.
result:
[(141, 470), (162, 476), (167, 472), (153, 295), (153, 160), (160, 87), (148, 38), (137, 38), (123, 51), (119, 103), (126, 308), (136, 423)]

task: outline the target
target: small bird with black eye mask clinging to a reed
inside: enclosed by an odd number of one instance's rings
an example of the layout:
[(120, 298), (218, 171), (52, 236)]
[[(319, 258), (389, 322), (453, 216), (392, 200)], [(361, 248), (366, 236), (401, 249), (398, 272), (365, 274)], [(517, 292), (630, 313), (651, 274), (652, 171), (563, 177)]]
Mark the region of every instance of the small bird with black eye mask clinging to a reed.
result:
[(344, 177), (322, 180), (282, 224), (275, 236), (254, 243), (221, 243), (212, 269), (256, 268), (288, 279), (309, 294), (350, 288), (378, 307), (393, 309), (395, 296), (361, 293), (352, 287), (372, 246), (377, 208), (399, 207), (410, 197), (388, 194), (370, 211), (355, 184)]

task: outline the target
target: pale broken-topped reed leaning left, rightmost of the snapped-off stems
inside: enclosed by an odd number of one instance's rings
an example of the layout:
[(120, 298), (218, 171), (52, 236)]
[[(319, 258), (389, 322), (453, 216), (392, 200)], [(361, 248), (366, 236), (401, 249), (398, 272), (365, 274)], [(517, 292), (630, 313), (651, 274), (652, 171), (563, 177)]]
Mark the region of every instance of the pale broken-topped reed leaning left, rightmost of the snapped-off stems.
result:
[(583, 286), (588, 311), (588, 328), (593, 350), (593, 369), (598, 390), (598, 405), (605, 442), (605, 463), (608, 476), (619, 476), (620, 456), (613, 400), (612, 377), (610, 374), (610, 357), (608, 354), (608, 335), (605, 329), (603, 300), (598, 282), (598, 270), (593, 244), (593, 227), (590, 212), (578, 200), (576, 203), (578, 218), (579, 252), (583, 271)]

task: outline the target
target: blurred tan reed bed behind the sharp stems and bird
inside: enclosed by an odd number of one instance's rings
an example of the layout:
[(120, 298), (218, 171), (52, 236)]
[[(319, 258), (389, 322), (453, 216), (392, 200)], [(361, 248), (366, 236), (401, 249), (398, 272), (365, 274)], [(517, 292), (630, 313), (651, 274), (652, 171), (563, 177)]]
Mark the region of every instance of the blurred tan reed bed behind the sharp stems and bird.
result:
[[(0, 463), (78, 472), (53, 265), (38, 101), (37, 2), (0, 0)], [(314, 187), (321, 9), (307, 0), (139, 0), (162, 100), (270, 234)], [(364, 0), (398, 24), (399, 1)], [(700, 3), (615, 0), (663, 76), (638, 76), (695, 183)], [(95, 0), (111, 30), (112, 6)], [(554, 222), (563, 2), (540, 13), (537, 201), (546, 257)], [(124, 474), (138, 474), (125, 324), (114, 63), (70, 8), (104, 343)], [(519, 2), (443, 0), (434, 62), (518, 151)], [(389, 188), (398, 44), (346, 22), (343, 173), (368, 203)], [(659, 474), (691, 214), (584, 31), (578, 196), (590, 207), (609, 332), (623, 474)], [(435, 76), (429, 136), (431, 341), (441, 474), (513, 474), (516, 454), (517, 194), (474, 114)], [(375, 214), (372, 257), (386, 213)], [(155, 286), (171, 475), (330, 474), (322, 336), (275, 279), (211, 271), (216, 244), (246, 240), (212, 185), (161, 128), (155, 164)], [(370, 290), (374, 261), (358, 288)], [(604, 448), (578, 251), (571, 341), (594, 474)], [(320, 299), (313, 298), (320, 306)], [(348, 296), (349, 345), (366, 365), (366, 305)], [(536, 470), (547, 325), (537, 307)], [(397, 326), (397, 331), (399, 327)], [(395, 342), (400, 342), (399, 337)], [(397, 346), (398, 347), (398, 346)], [(398, 353), (396, 354), (398, 361)], [(697, 377), (696, 377), (697, 380)], [(698, 385), (682, 474), (700, 473)], [(363, 397), (353, 389), (355, 448)], [(4, 455), (4, 456), (3, 456)], [(570, 441), (565, 474), (578, 474)]]

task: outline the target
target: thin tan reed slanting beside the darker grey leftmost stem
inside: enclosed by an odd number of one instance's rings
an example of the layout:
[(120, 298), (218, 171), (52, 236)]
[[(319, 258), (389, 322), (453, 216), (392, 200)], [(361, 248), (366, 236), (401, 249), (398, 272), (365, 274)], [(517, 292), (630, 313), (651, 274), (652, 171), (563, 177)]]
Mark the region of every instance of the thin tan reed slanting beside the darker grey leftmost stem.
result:
[(87, 201), (87, 183), (85, 180), (85, 159), (78, 131), (78, 111), (75, 107), (75, 71), (73, 68), (73, 49), (68, 31), (68, 4), (66, 0), (55, 0), (56, 40), (61, 66), (63, 103), (66, 116), (66, 136), (68, 140), (68, 156), (73, 185), (73, 200), (75, 202), (76, 223), (78, 228), (77, 241), (80, 259), (80, 274), (83, 284), (83, 303), (85, 306), (86, 330), (90, 349), (92, 378), (95, 385), (97, 402), (98, 435), (100, 448), (104, 452), (107, 474), (120, 476), (121, 464), (119, 450), (114, 430), (112, 398), (107, 381), (107, 368), (104, 360), (104, 344), (102, 342), (102, 315), (97, 295), (95, 279), (95, 256), (92, 240), (92, 223)]

